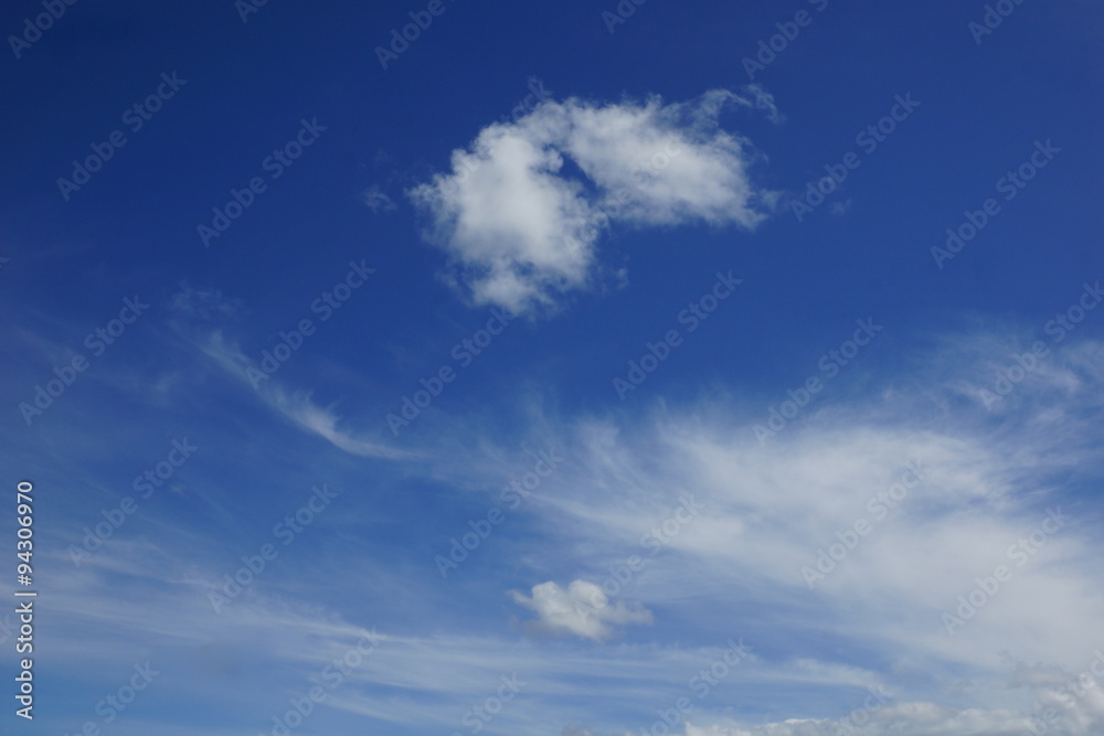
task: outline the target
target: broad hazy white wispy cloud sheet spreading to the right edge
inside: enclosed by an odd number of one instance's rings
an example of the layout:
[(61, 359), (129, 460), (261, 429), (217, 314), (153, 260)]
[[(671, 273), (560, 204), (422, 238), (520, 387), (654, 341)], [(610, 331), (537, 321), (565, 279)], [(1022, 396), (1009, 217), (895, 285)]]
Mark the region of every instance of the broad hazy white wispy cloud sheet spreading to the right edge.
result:
[[(545, 503), (566, 514), (569, 538), (604, 541), (592, 559), (574, 563), (584, 569), (640, 552), (640, 535), (670, 514), (681, 489), (707, 503), (710, 513), (673, 535), (635, 578), (635, 595), (649, 606), (713, 589), (731, 591), (714, 594), (725, 610), (753, 591), (761, 606), (808, 607), (809, 619), (795, 612), (772, 621), (764, 631), (772, 637), (829, 626), (902, 662), (991, 673), (1008, 652), (1074, 665), (1104, 600), (1095, 593), (1100, 575), (1086, 565), (1093, 541), (1084, 516), (1054, 498), (1054, 484), (1090, 459), (1089, 447), (1064, 441), (1089, 424), (994, 436), (955, 427), (951, 417), (923, 426), (919, 408), (904, 395), (890, 406), (826, 408), (765, 447), (751, 422), (710, 426), (692, 412), (661, 420), (659, 439), (617, 433), (609, 447), (592, 430), (565, 450), (574, 463), (564, 469), (564, 491)], [(922, 484), (901, 503), (872, 510), (870, 500), (912, 460), (927, 469)], [(1006, 551), (1040, 526), (1048, 506), (1071, 521), (1021, 567)], [(816, 569), (818, 551), (857, 520), (873, 531), (810, 589), (803, 568)], [(1001, 563), (1013, 570), (1011, 583), (948, 633), (943, 612)], [(707, 607), (697, 618), (712, 626), (715, 617)], [(1052, 626), (1058, 618), (1065, 625)]]

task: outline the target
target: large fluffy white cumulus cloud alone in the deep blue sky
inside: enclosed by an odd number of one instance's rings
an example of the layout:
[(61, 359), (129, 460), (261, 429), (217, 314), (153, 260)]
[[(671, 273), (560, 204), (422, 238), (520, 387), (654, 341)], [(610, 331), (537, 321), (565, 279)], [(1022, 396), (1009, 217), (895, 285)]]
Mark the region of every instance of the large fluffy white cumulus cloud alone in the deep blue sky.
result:
[(548, 100), (484, 128), (453, 152), (449, 172), (410, 195), (473, 301), (516, 312), (554, 306), (590, 282), (596, 244), (613, 223), (750, 230), (766, 216), (775, 198), (752, 182), (753, 148), (718, 122), (731, 106), (777, 119), (758, 88), (666, 105)]

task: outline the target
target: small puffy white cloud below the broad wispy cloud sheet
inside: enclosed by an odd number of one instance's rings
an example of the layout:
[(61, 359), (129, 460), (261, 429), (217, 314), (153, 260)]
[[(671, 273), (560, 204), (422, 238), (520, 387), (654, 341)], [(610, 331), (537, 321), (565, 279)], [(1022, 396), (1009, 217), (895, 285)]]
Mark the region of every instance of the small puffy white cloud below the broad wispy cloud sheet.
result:
[(533, 586), (532, 596), (511, 595), (514, 602), (537, 612), (537, 620), (529, 623), (532, 632), (599, 640), (613, 633), (611, 625), (651, 622), (651, 612), (644, 607), (622, 600), (611, 604), (601, 586), (586, 580), (574, 580), (566, 590), (553, 582), (541, 583)]

